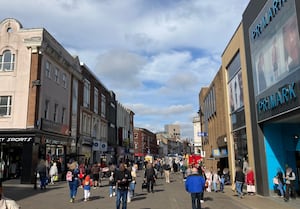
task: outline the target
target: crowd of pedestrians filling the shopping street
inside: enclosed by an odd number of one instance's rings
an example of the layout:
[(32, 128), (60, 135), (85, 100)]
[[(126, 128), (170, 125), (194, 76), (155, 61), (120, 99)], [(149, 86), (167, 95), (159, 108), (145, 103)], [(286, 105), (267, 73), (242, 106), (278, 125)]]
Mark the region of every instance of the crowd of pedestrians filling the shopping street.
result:
[[(107, 177), (110, 198), (115, 198), (116, 209), (126, 209), (127, 204), (131, 202), (135, 196), (136, 177), (139, 175), (144, 179), (148, 193), (155, 192), (155, 184), (157, 179), (161, 178), (167, 184), (170, 184), (170, 174), (179, 174), (177, 177), (184, 182), (185, 190), (190, 194), (193, 209), (200, 209), (204, 203), (205, 192), (224, 192), (224, 185), (228, 184), (228, 169), (223, 170), (213, 168), (207, 169), (202, 163), (190, 164), (184, 162), (176, 162), (174, 159), (158, 159), (153, 162), (145, 161), (144, 167), (140, 168), (138, 164), (125, 163), (121, 161), (117, 164), (109, 164), (105, 176)], [(91, 188), (97, 189), (101, 186), (101, 178), (104, 176), (101, 164), (95, 162), (90, 168), (84, 164), (78, 164), (74, 160), (70, 160), (67, 164), (66, 180), (69, 187), (70, 202), (76, 202), (78, 188), (83, 188), (83, 201), (87, 202), (91, 197)], [(40, 178), (40, 188), (45, 189), (47, 182), (45, 177), (49, 175), (48, 181), (54, 184), (55, 176), (58, 175), (56, 163), (50, 166), (47, 171), (47, 163), (41, 160), (37, 165), (37, 174)], [(227, 180), (226, 180), (227, 179)], [(295, 197), (294, 182), (296, 175), (290, 167), (285, 172), (281, 169), (277, 170), (274, 177), (274, 188), (278, 190), (280, 197), (288, 201), (291, 197)], [(230, 182), (229, 182), (230, 183)], [(233, 176), (233, 191), (239, 198), (244, 198), (245, 194), (255, 195), (255, 173), (253, 169), (247, 166), (236, 167)], [(138, 185), (141, 186), (141, 185)], [(243, 189), (246, 188), (244, 192)], [(1, 201), (0, 201), (1, 204)], [(1, 208), (1, 207), (0, 207)]]

